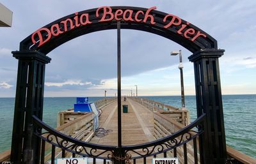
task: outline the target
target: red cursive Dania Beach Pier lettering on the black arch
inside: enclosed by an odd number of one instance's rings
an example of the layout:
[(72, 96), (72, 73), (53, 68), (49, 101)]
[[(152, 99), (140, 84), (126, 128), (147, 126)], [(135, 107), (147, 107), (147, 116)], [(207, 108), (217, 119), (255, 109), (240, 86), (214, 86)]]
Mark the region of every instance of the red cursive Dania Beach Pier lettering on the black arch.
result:
[[(125, 20), (131, 22), (144, 22), (154, 25), (156, 24), (156, 21), (154, 20), (154, 15), (152, 15), (152, 10), (156, 10), (156, 6), (148, 8), (147, 11), (118, 9), (115, 11), (115, 13), (113, 13), (111, 7), (102, 6), (97, 8), (95, 16), (100, 19), (99, 22), (108, 22), (115, 19), (116, 21)], [(188, 40), (195, 41), (196, 38), (200, 36), (204, 38), (207, 37), (206, 34), (203, 34), (200, 31), (196, 31), (196, 29), (193, 29), (193, 27), (189, 27), (189, 22), (182, 21), (175, 15), (168, 14), (162, 21), (166, 23), (166, 25), (163, 26), (165, 29), (176, 29), (177, 34), (180, 34)], [(74, 17), (62, 20), (61, 22), (49, 27), (49, 29), (45, 27), (38, 29), (35, 31), (35, 33), (32, 34), (31, 40), (33, 44), (38, 43), (38, 47), (40, 47), (47, 43), (47, 41), (51, 40), (52, 37), (58, 37), (63, 33), (67, 33), (68, 31), (76, 29), (77, 27), (86, 26), (88, 24), (92, 24), (90, 21), (89, 13), (79, 14), (76, 12), (74, 13)]]

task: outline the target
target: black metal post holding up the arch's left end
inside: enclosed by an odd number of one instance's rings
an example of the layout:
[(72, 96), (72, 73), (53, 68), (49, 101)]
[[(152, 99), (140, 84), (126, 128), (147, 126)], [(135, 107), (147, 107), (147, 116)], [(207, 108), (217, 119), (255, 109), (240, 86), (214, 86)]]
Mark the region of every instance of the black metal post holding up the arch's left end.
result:
[(12, 54), (19, 59), (19, 66), (11, 161), (14, 164), (37, 163), (40, 140), (33, 135), (35, 127), (33, 127), (31, 116), (35, 115), (42, 119), (45, 64), (49, 63), (51, 58), (36, 51), (14, 51)]

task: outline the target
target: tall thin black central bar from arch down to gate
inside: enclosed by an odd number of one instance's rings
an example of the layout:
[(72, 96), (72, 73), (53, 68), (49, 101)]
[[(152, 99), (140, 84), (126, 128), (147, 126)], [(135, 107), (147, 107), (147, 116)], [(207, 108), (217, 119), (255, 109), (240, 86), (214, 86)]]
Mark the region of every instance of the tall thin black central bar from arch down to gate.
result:
[(122, 119), (121, 119), (121, 25), (117, 22), (117, 109), (118, 109), (118, 147), (122, 147)]

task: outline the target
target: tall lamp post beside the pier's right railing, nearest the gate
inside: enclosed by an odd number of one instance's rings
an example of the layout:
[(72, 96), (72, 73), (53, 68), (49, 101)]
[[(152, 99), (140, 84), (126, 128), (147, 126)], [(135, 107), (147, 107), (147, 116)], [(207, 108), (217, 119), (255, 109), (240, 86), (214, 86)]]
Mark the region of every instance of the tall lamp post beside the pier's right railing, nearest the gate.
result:
[(177, 54), (179, 54), (179, 56), (180, 56), (179, 69), (180, 69), (180, 87), (181, 87), (181, 107), (182, 107), (182, 109), (184, 109), (185, 108), (185, 96), (184, 96), (182, 54), (181, 54), (181, 50), (171, 52), (171, 56), (177, 56)]

